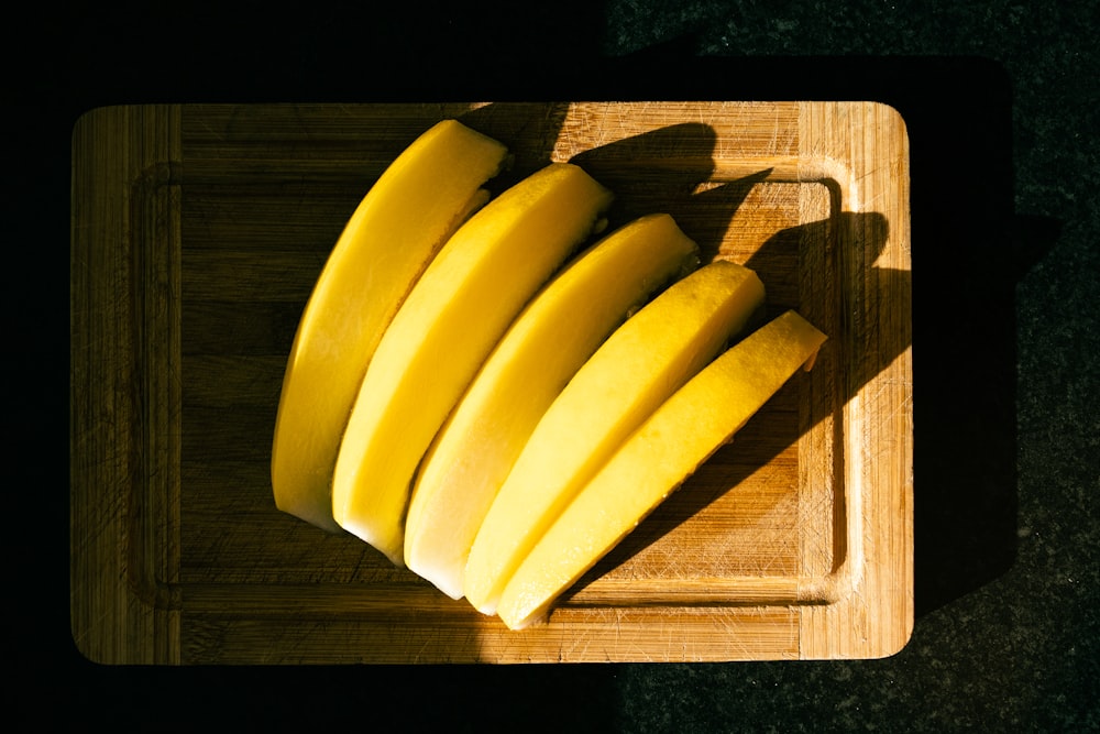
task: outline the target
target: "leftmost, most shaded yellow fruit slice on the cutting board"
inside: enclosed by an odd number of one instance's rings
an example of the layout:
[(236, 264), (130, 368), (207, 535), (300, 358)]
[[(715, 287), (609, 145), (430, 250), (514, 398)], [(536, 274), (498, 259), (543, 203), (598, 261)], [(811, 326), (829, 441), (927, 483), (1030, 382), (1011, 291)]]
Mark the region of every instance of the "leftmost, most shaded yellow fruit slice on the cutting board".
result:
[(333, 533), (331, 483), (352, 403), (382, 333), (471, 212), (507, 149), (455, 120), (413, 142), (356, 207), (302, 313), (272, 446), (276, 506)]

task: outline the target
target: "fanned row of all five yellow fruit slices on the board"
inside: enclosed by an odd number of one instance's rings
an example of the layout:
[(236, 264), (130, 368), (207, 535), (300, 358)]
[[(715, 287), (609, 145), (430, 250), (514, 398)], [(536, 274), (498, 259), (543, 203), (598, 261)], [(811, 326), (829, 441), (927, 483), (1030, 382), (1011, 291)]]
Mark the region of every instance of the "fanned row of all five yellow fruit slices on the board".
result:
[(744, 335), (756, 273), (701, 264), (666, 213), (606, 231), (613, 193), (576, 165), (491, 198), (508, 161), (444, 120), (366, 194), (298, 326), (272, 484), (519, 629), (825, 336), (794, 311)]

